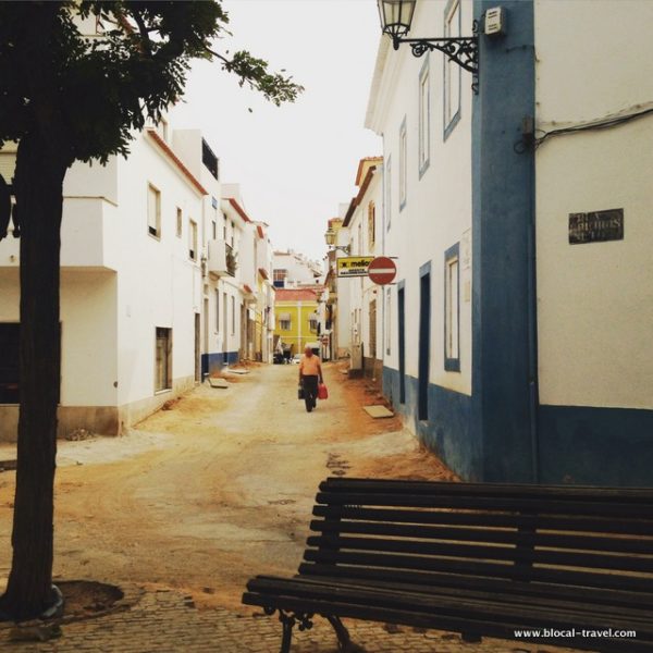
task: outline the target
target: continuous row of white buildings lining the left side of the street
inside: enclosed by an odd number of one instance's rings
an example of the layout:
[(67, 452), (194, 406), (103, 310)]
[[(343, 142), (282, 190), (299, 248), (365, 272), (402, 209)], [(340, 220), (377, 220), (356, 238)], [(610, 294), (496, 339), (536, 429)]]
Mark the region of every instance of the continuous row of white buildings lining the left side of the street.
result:
[[(0, 153), (12, 176), (15, 152)], [(197, 130), (165, 120), (64, 182), (59, 434), (118, 434), (204, 374), (269, 361), (272, 256)], [(0, 440), (17, 430), (19, 241), (0, 242)]]

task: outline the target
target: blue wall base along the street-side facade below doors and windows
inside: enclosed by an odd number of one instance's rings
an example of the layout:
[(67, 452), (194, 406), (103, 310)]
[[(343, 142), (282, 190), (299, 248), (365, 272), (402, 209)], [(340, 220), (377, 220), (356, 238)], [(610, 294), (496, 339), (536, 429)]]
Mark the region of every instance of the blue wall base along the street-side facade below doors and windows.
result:
[(406, 377), (406, 402), (399, 404), (399, 372), (383, 368), (383, 393), (411, 423), (424, 446), (466, 480), (481, 480), (482, 446), (473, 441), (471, 397), (429, 384), (429, 420), (417, 419), (418, 382)]

